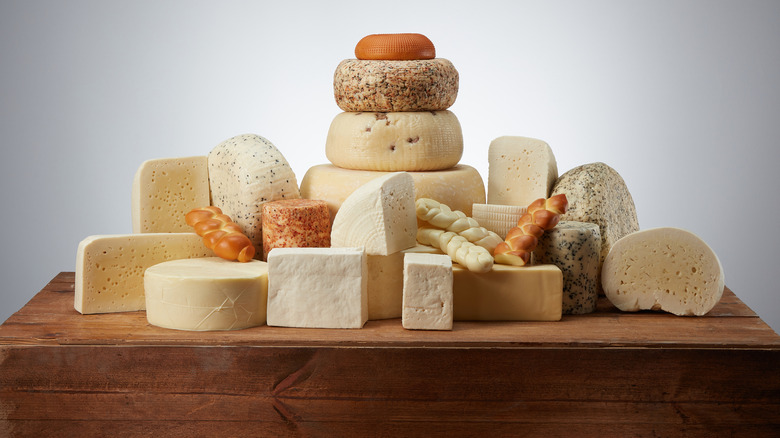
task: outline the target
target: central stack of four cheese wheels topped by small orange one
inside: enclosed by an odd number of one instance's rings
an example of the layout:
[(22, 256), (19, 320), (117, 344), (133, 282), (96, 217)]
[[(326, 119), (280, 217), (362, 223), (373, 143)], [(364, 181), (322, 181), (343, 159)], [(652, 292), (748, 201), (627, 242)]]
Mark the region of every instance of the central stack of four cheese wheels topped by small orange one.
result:
[(331, 220), (344, 200), (366, 182), (409, 172), (416, 198), (432, 198), (471, 214), (485, 202), (476, 169), (458, 164), (463, 135), (448, 111), (458, 94), (458, 72), (436, 58), (420, 34), (377, 34), (361, 39), (357, 59), (336, 68), (333, 89), (344, 112), (330, 125), (325, 152), (331, 164), (314, 166), (301, 196), (328, 203)]

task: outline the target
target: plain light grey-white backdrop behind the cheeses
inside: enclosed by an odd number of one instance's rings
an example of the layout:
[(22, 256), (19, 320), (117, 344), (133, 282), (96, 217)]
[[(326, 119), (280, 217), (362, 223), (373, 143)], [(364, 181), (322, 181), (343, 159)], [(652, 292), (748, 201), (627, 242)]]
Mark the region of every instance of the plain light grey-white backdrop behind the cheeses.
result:
[(780, 329), (780, 2), (0, 0), (0, 321), (78, 242), (129, 233), (144, 160), (257, 133), (298, 180), (326, 162), (333, 72), (371, 33), (419, 32), (453, 62), (462, 162), (501, 135), (564, 171), (602, 161), (641, 228), (704, 239)]

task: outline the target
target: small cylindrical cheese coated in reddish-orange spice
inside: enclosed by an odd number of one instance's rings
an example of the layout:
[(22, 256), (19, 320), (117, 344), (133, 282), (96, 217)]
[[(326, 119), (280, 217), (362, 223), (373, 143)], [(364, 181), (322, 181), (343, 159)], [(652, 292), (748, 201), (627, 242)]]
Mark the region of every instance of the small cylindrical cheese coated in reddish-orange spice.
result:
[(330, 247), (330, 211), (325, 201), (285, 199), (263, 204), (263, 260), (273, 248)]

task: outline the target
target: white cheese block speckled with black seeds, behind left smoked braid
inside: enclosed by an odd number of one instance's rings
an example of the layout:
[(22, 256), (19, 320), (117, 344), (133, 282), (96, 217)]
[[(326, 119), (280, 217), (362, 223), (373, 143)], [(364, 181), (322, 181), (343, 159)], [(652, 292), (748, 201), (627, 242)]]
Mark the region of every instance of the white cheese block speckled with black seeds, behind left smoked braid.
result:
[(237, 223), (263, 254), (262, 205), (279, 199), (298, 199), (292, 168), (270, 141), (255, 134), (220, 143), (208, 156), (212, 205)]

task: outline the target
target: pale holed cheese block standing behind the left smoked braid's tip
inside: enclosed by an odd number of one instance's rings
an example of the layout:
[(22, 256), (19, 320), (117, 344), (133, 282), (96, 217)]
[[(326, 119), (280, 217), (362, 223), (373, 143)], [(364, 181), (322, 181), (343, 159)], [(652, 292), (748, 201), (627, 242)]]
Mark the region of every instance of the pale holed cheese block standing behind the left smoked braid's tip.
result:
[(134, 233), (187, 233), (184, 216), (210, 205), (206, 157), (144, 161), (131, 192)]

